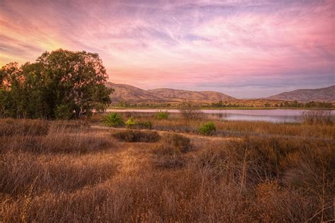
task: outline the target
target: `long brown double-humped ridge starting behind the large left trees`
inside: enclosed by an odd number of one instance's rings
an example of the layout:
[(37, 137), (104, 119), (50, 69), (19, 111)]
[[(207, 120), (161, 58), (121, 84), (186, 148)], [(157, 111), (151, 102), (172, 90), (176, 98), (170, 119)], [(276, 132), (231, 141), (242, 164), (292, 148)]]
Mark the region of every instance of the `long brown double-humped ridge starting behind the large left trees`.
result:
[(115, 84), (108, 82), (108, 88), (113, 88), (114, 92), (110, 95), (112, 102), (201, 102), (211, 103), (227, 100), (235, 100), (234, 97), (225, 95), (221, 92), (212, 91), (190, 91), (190, 90), (175, 90), (175, 89), (153, 89), (143, 90), (131, 85)]

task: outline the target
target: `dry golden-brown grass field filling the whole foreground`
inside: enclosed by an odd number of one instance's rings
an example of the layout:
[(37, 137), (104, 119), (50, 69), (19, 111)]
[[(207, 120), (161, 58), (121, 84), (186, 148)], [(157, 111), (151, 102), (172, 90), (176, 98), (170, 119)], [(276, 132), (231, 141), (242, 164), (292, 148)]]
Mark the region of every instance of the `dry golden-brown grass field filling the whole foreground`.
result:
[(335, 219), (334, 125), (136, 119), (0, 119), (0, 222)]

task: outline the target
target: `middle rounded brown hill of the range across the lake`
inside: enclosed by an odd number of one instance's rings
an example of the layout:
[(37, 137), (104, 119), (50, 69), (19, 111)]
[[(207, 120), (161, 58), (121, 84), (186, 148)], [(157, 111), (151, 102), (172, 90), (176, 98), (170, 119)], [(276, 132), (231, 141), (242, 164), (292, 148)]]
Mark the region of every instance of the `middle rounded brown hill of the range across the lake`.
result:
[(158, 88), (153, 90), (148, 90), (148, 92), (153, 93), (164, 100), (171, 102), (219, 102), (235, 100), (235, 97), (225, 95), (221, 92), (214, 91), (190, 91), (190, 90), (175, 90), (170, 88)]

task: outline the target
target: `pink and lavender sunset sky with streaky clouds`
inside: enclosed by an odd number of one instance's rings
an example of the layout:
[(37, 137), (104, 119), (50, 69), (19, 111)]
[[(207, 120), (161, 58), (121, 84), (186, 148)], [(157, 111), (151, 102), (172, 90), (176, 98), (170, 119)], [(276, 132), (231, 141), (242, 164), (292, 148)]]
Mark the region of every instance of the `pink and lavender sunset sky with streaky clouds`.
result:
[(100, 55), (109, 81), (266, 97), (335, 85), (335, 1), (0, 0), (0, 66)]

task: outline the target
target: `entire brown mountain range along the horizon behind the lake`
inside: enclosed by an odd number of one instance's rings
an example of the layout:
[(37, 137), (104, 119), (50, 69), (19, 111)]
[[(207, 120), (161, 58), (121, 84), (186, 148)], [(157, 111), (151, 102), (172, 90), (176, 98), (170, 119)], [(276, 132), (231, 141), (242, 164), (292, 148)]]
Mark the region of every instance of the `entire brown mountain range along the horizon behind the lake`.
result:
[[(177, 103), (184, 101), (198, 103), (227, 101), (236, 103), (240, 101), (235, 97), (215, 91), (175, 90), (170, 88), (143, 90), (132, 85), (116, 84), (111, 82), (106, 83), (106, 86), (107, 88), (114, 89), (114, 92), (110, 95), (113, 103)], [(328, 88), (293, 90), (257, 100), (335, 102), (335, 85)]]

